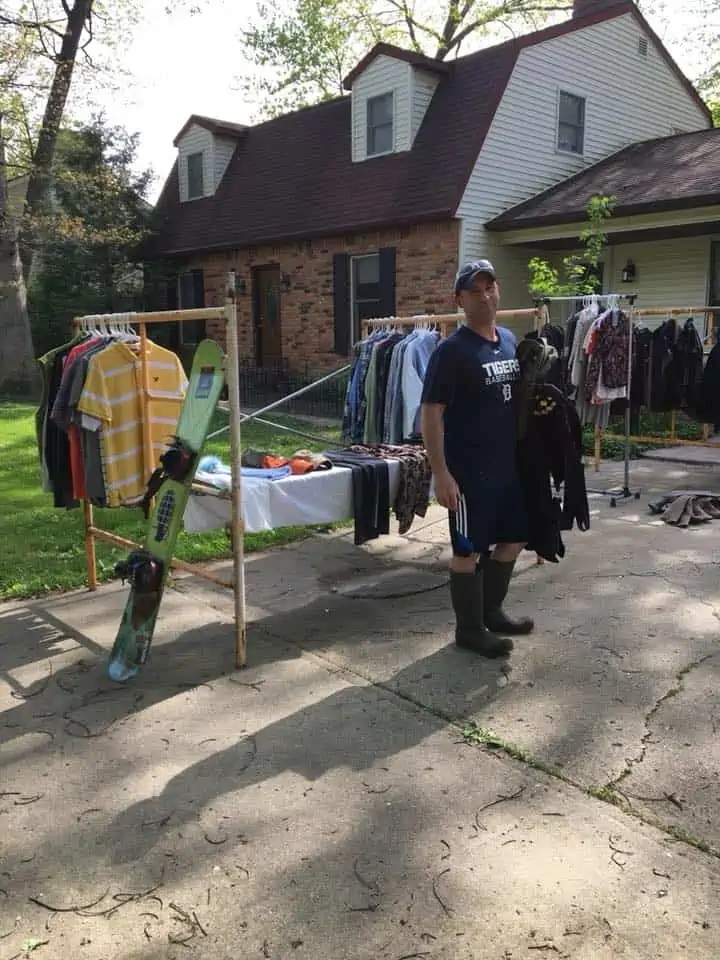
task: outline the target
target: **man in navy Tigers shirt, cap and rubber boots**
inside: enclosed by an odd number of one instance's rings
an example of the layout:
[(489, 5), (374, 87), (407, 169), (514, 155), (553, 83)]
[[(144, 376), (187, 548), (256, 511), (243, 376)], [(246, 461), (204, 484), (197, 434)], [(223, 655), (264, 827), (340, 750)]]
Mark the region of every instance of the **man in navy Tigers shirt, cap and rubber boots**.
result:
[(527, 519), (513, 404), (520, 366), (514, 335), (495, 325), (499, 300), (488, 260), (458, 271), (455, 301), (465, 324), (432, 355), (421, 407), (435, 496), (449, 511), (456, 643), (487, 657), (506, 656), (509, 635), (533, 629), (531, 620), (511, 620), (502, 609)]

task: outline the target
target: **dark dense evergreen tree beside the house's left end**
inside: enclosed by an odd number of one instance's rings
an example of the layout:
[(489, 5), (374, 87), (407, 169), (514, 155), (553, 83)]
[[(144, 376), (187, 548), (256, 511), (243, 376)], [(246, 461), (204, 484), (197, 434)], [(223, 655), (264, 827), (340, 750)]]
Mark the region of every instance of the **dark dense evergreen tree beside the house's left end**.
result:
[(40, 252), (29, 305), (41, 353), (67, 339), (74, 316), (140, 307), (136, 251), (152, 210), (151, 174), (133, 173), (136, 151), (136, 135), (102, 118), (58, 135), (50, 189), (33, 222)]

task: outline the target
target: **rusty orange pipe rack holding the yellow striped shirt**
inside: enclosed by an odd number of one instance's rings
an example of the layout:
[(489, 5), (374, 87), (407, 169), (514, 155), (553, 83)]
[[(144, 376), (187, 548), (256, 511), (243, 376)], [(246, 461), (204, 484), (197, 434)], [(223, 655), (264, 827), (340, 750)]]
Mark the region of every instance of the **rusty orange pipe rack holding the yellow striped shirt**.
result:
[[(141, 364), (141, 411), (143, 430), (143, 467), (147, 477), (153, 472), (157, 464), (154, 462), (152, 438), (150, 432), (150, 405), (154, 399), (150, 390), (150, 378), (147, 365), (148, 356), (148, 324), (181, 323), (184, 320), (218, 320), (226, 324), (227, 352), (225, 373), (228, 386), (228, 401), (230, 410), (230, 455), (233, 467), (240, 463), (242, 454), (240, 435), (240, 390), (238, 383), (238, 331), (237, 305), (235, 302), (234, 277), (228, 278), (228, 297), (224, 307), (203, 307), (195, 310), (165, 310), (156, 313), (106, 314), (96, 316), (77, 317), (73, 321), (76, 330), (88, 329), (92, 325), (105, 326), (113, 323), (131, 324), (138, 328), (140, 337), (140, 364)], [(243, 667), (247, 657), (246, 643), (246, 614), (245, 614), (245, 551), (243, 542), (243, 513), (242, 513), (242, 476), (239, 469), (232, 471), (232, 542), (233, 549), (233, 582), (228, 584), (210, 570), (202, 566), (185, 563), (173, 558), (171, 567), (192, 573), (194, 576), (209, 580), (219, 586), (231, 588), (235, 600), (235, 663)], [(97, 590), (97, 558), (95, 541), (104, 540), (117, 547), (130, 550), (137, 549), (140, 544), (125, 537), (119, 537), (109, 530), (103, 530), (95, 524), (93, 505), (89, 501), (83, 503), (83, 519), (85, 526), (85, 555), (88, 570), (88, 588)]]

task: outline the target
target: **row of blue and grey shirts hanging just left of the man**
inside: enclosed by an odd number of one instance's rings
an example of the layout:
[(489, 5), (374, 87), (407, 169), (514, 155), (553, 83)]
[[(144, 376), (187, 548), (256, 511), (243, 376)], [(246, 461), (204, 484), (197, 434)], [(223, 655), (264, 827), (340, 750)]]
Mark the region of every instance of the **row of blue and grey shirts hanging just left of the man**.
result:
[(375, 331), (357, 344), (345, 395), (343, 442), (402, 444), (420, 435), (420, 397), (439, 334)]

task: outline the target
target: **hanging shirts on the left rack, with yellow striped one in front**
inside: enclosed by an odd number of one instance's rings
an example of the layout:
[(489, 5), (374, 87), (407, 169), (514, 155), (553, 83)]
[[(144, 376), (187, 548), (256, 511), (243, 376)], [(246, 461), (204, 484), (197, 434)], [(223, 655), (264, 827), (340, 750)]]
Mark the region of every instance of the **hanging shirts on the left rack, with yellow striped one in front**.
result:
[(139, 350), (129, 328), (95, 330), (40, 359), (38, 451), (44, 489), (56, 507), (70, 509), (84, 499), (102, 507), (142, 501), (148, 479), (143, 417), (150, 418), (155, 465), (172, 440), (188, 381), (179, 358), (148, 340), (145, 405)]

